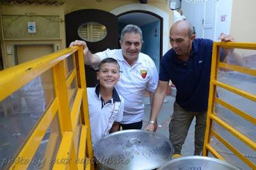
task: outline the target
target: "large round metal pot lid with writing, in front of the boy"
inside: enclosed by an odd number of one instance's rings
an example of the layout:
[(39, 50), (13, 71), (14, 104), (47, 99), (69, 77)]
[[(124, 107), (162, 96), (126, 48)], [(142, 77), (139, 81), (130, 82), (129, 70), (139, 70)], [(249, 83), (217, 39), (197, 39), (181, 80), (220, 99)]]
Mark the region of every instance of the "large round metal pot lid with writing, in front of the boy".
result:
[(173, 144), (148, 130), (122, 130), (103, 137), (95, 145), (99, 169), (155, 169), (170, 160)]

